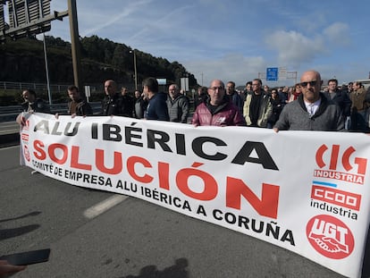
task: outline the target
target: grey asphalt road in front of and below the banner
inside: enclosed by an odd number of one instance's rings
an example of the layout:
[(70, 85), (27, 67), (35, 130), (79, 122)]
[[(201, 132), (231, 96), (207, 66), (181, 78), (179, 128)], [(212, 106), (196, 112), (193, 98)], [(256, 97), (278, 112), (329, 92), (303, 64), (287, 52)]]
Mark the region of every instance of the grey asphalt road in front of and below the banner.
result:
[(31, 174), (19, 164), (18, 146), (0, 148), (0, 157), (0, 255), (51, 249), (48, 262), (13, 277), (342, 277), (137, 198)]

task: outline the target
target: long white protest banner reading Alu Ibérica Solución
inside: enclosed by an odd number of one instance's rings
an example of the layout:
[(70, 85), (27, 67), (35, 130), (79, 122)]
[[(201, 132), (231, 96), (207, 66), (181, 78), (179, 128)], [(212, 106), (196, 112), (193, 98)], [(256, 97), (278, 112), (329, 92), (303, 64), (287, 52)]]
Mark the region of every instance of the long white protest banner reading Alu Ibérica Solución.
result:
[(21, 163), (141, 198), (359, 277), (369, 226), (369, 137), (27, 114)]

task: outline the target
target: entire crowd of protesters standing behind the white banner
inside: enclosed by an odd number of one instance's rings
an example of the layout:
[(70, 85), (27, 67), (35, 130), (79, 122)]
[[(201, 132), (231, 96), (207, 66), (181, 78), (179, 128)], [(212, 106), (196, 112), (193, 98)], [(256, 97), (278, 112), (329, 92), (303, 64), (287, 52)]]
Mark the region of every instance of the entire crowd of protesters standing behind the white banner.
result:
[[(234, 81), (226, 86), (212, 80), (210, 86), (199, 87), (193, 99), (191, 121), (190, 99), (177, 84), (167, 92), (159, 90), (155, 78), (142, 82), (142, 91), (119, 90), (114, 80), (105, 80), (105, 97), (99, 115), (125, 116), (137, 119), (192, 123), (216, 126), (248, 126), (274, 131), (369, 131), (370, 90), (360, 82), (338, 86), (338, 80), (323, 84), (319, 72), (304, 72), (292, 87), (269, 88), (262, 80), (246, 83), (237, 91)], [(72, 117), (92, 115), (91, 106), (80, 95), (79, 88), (68, 88), (68, 114)], [(50, 113), (48, 105), (31, 89), (22, 92), (24, 111)], [(21, 123), (21, 119), (17, 118)]]

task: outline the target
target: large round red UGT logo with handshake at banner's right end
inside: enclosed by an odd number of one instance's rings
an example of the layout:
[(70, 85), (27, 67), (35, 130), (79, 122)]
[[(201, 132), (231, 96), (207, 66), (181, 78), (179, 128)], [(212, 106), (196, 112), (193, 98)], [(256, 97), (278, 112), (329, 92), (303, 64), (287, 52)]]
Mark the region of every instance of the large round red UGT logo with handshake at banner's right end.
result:
[(316, 215), (311, 218), (307, 223), (306, 234), (312, 247), (324, 257), (349, 257), (355, 247), (349, 227), (330, 215)]

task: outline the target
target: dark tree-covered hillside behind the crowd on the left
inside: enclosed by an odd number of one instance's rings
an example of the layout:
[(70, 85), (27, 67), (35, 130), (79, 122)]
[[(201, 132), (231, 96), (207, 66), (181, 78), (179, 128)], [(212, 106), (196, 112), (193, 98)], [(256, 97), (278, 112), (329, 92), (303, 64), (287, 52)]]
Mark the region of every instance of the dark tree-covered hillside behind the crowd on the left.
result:
[[(107, 38), (97, 36), (80, 38), (82, 83), (102, 84), (106, 79), (114, 79), (119, 84), (134, 88), (132, 51), (130, 46), (115, 43)], [(50, 83), (72, 84), (71, 43), (63, 41), (62, 38), (46, 36), (46, 52)], [(138, 49), (135, 49), (135, 55), (139, 84), (147, 77), (156, 77), (166, 79), (168, 84), (180, 85), (182, 77), (189, 77), (189, 88), (198, 87), (194, 75), (187, 72), (181, 63), (176, 61), (170, 63), (163, 57), (155, 57)], [(5, 44), (0, 45), (0, 64), (2, 65), (0, 80), (46, 84), (43, 41), (36, 38), (21, 38), (16, 41), (7, 39)], [(17, 94), (19, 93), (18, 91)], [(14, 97), (0, 97), (5, 99), (4, 102), (14, 102), (12, 100)], [(64, 100), (65, 96), (53, 95), (53, 102)]]

